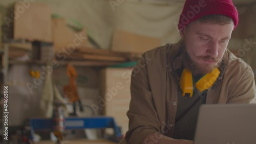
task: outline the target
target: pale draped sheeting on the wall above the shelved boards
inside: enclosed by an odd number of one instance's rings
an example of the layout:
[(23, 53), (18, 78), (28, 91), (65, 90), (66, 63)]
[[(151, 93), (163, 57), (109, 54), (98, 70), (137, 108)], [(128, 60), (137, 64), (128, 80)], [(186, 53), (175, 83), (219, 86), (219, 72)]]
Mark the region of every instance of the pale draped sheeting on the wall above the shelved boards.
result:
[[(3, 9), (11, 8), (15, 0), (3, 0)], [(134, 32), (162, 39), (162, 43), (176, 42), (180, 37), (176, 25), (182, 11), (182, 3), (176, 5), (154, 5), (145, 2), (124, 1), (112, 6), (110, 1), (87, 0), (37, 0), (46, 3), (53, 14), (82, 23), (102, 49), (108, 49), (115, 29)], [(1, 10), (3, 15), (7, 9)], [(4, 22), (5, 20), (3, 20)], [(157, 26), (157, 27), (156, 27)]]

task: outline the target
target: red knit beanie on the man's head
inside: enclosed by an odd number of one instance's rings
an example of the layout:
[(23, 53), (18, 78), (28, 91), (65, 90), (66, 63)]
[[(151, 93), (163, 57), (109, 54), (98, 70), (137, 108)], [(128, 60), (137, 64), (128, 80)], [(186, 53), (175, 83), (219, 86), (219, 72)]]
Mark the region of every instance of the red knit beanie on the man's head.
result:
[(180, 15), (178, 29), (206, 15), (220, 14), (233, 19), (234, 29), (238, 25), (238, 11), (231, 0), (186, 0)]

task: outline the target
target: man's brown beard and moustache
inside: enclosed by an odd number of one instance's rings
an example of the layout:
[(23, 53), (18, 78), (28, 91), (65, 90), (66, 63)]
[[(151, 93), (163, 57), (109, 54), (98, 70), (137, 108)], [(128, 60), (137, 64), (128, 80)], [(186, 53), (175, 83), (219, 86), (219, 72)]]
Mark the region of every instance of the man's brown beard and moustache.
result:
[(184, 50), (184, 60), (185, 60), (185, 67), (188, 68), (191, 73), (196, 76), (196, 75), (205, 75), (210, 73), (214, 68), (219, 67), (221, 63), (220, 58), (212, 58), (210, 56), (205, 56), (205, 57), (199, 57), (199, 59), (202, 59), (204, 61), (212, 60), (216, 63), (212, 64), (199, 64), (193, 61), (190, 56), (188, 55), (187, 51)]

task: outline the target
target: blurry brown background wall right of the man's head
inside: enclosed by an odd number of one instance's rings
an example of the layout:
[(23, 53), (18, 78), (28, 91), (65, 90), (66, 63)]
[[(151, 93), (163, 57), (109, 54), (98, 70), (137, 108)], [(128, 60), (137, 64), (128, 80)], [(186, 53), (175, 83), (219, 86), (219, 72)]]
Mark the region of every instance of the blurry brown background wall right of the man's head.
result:
[[(238, 8), (239, 25), (232, 33), (228, 48), (247, 62), (256, 74), (256, 4)], [(255, 78), (256, 80), (256, 78)]]

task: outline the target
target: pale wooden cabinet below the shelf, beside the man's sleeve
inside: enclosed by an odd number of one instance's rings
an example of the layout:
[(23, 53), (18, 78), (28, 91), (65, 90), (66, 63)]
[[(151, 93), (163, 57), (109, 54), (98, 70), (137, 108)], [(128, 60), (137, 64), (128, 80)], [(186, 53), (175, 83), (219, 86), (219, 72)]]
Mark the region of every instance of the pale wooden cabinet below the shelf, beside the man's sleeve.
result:
[[(129, 110), (131, 101), (132, 68), (105, 68), (101, 71), (101, 97), (98, 106), (103, 114), (115, 118), (121, 133), (125, 135), (128, 130), (129, 119), (126, 112)], [(111, 133), (111, 131), (106, 131)]]

